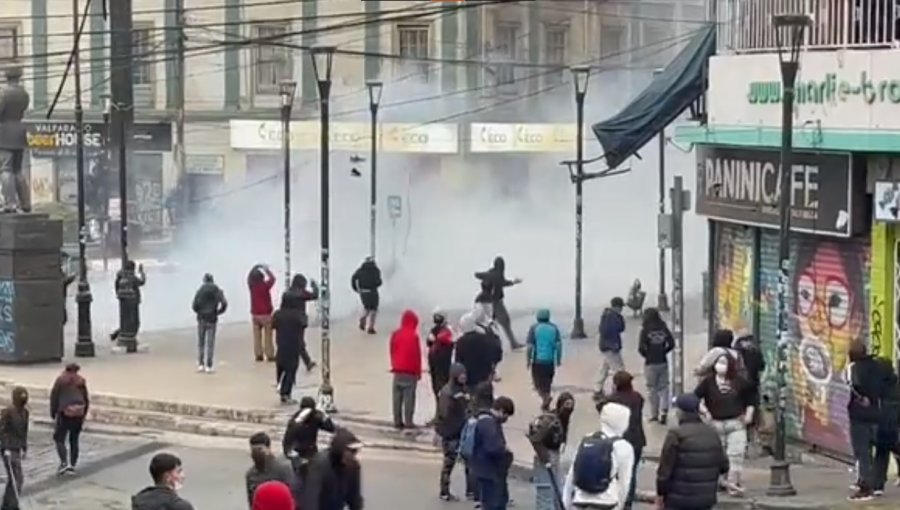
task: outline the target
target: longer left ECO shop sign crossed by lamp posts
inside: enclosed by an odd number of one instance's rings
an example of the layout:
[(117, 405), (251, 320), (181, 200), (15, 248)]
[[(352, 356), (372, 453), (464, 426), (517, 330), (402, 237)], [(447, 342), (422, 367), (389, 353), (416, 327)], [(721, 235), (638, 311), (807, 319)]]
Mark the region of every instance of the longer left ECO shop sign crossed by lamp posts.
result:
[[(459, 151), (456, 124), (379, 124), (379, 150), (419, 154), (455, 154)], [(291, 122), (291, 149), (318, 150), (320, 124), (317, 121)], [(331, 149), (367, 152), (371, 149), (371, 125), (364, 122), (332, 122)], [(281, 150), (281, 122), (231, 121), (231, 148), (238, 150)]]

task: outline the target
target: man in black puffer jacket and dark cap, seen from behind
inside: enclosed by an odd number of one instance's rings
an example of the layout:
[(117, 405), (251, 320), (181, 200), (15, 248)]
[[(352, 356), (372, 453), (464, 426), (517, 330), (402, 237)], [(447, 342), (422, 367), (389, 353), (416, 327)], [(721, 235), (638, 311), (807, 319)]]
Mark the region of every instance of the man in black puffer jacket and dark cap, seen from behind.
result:
[(719, 477), (730, 467), (725, 448), (716, 430), (700, 419), (700, 399), (687, 393), (675, 400), (675, 407), (678, 426), (666, 434), (656, 470), (656, 508), (714, 508)]

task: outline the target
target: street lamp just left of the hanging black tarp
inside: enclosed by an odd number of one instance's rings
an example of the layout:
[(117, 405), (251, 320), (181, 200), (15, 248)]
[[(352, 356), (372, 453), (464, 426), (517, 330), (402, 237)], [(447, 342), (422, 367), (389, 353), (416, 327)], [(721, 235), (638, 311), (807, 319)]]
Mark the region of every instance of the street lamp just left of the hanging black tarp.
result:
[(582, 197), (584, 194), (584, 97), (587, 95), (588, 79), (591, 68), (575, 66), (572, 78), (575, 82), (576, 137), (575, 142), (575, 321), (572, 324), (571, 338), (584, 339), (584, 317), (581, 313), (581, 259), (582, 259), (582, 223), (584, 220)]

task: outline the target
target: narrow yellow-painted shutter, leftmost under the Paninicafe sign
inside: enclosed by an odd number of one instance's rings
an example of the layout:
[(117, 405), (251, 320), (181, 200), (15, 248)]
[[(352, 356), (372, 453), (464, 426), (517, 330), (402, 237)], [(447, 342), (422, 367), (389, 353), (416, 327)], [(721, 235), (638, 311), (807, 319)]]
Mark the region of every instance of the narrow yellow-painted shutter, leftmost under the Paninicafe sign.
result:
[(753, 228), (716, 227), (715, 323), (735, 332), (753, 329)]

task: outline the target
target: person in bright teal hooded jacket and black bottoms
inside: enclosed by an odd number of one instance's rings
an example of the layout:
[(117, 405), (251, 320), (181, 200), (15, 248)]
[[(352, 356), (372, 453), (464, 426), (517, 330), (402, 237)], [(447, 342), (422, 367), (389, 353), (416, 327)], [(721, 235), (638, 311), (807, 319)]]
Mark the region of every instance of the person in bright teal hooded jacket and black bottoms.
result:
[(537, 322), (528, 330), (528, 367), (534, 389), (541, 397), (541, 409), (550, 409), (550, 390), (556, 367), (562, 362), (562, 335), (556, 324), (550, 322), (550, 310), (538, 310)]

